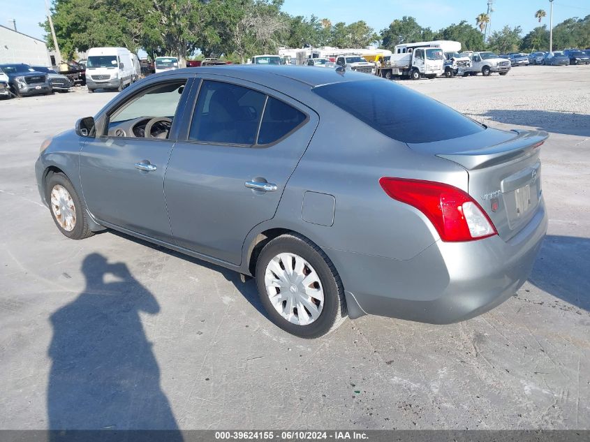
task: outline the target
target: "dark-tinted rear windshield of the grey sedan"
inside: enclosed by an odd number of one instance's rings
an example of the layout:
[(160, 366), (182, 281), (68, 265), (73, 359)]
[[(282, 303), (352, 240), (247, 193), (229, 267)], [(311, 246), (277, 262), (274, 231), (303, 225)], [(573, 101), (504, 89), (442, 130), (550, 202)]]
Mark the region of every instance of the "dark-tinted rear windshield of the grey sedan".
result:
[(394, 140), (408, 143), (459, 138), (485, 127), (442, 103), (386, 80), (315, 87), (314, 92)]

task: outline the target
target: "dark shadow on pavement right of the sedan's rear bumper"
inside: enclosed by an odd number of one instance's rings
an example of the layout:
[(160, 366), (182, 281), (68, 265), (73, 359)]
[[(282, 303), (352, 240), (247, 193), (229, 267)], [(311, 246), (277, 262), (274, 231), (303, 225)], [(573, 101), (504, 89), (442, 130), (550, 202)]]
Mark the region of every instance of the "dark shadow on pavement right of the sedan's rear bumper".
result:
[(529, 282), (575, 307), (590, 311), (590, 239), (547, 235)]

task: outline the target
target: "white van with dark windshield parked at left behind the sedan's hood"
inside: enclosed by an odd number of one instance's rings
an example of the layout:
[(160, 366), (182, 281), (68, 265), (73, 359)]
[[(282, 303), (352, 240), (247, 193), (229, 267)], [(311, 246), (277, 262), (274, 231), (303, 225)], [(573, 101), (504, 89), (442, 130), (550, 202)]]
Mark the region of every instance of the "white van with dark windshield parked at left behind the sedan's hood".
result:
[(117, 89), (133, 83), (135, 67), (131, 52), (124, 47), (92, 47), (86, 61), (86, 84), (95, 89)]

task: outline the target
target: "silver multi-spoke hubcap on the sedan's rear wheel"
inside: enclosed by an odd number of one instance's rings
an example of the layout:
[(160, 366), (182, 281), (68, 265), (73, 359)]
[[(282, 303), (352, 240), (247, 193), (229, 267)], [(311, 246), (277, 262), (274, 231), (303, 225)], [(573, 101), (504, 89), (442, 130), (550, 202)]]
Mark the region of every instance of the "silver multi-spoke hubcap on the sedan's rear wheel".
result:
[(276, 311), (293, 324), (316, 321), (324, 307), (324, 290), (311, 264), (295, 253), (279, 253), (265, 272), (266, 293)]

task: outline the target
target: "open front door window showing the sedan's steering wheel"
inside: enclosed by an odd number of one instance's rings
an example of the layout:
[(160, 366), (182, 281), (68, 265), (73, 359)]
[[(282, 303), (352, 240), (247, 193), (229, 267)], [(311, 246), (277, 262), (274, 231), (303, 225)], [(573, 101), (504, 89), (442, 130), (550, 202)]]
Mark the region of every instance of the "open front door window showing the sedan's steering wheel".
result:
[(164, 82), (131, 97), (110, 115), (108, 135), (168, 138), (185, 84), (186, 80)]

